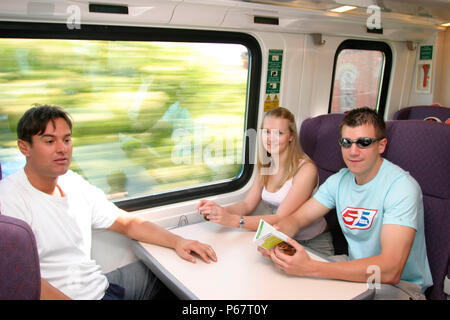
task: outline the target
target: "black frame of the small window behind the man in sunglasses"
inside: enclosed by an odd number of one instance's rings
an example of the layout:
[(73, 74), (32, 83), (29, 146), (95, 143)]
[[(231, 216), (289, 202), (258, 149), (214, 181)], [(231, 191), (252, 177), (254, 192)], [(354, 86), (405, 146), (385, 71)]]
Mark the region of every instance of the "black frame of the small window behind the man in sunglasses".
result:
[[(347, 39), (344, 40), (336, 49), (336, 53), (334, 55), (333, 62), (333, 74), (331, 77), (331, 88), (330, 88), (330, 99), (328, 102), (328, 113), (331, 112), (332, 104), (333, 104), (333, 89), (334, 89), (334, 79), (336, 76), (336, 63), (339, 57), (339, 54), (342, 50), (345, 49), (355, 49), (355, 50), (371, 50), (371, 51), (380, 51), (384, 54), (385, 61), (383, 67), (383, 73), (381, 74), (382, 81), (381, 87), (379, 91), (379, 101), (377, 112), (384, 116), (384, 112), (386, 110), (386, 101), (389, 92), (389, 82), (391, 79), (391, 70), (392, 70), (392, 50), (391, 47), (382, 41), (371, 41), (371, 40), (356, 40), (356, 39)], [(362, 107), (362, 106), (361, 106)]]

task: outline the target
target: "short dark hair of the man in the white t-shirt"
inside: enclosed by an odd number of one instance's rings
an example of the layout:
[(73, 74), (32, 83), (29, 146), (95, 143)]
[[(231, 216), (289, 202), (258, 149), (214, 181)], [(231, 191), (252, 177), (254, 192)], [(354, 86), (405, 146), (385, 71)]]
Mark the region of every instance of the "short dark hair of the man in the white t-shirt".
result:
[(17, 138), (31, 144), (31, 137), (45, 132), (49, 121), (55, 126), (55, 119), (62, 118), (72, 131), (70, 115), (58, 106), (38, 105), (27, 110), (17, 123)]

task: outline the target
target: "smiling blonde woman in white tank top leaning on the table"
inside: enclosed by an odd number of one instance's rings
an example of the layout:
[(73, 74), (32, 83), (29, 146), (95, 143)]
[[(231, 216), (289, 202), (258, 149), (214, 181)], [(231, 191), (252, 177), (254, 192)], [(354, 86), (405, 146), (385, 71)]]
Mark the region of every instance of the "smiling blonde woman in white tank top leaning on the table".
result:
[[(318, 187), (318, 171), (298, 141), (294, 115), (286, 108), (275, 108), (264, 115), (259, 135), (258, 174), (243, 201), (222, 207), (201, 200), (197, 210), (211, 222), (224, 226), (256, 230), (260, 219), (270, 224), (294, 213)], [(272, 215), (251, 215), (263, 201)], [(294, 237), (300, 244), (325, 255), (334, 253), (327, 223), (320, 218)]]

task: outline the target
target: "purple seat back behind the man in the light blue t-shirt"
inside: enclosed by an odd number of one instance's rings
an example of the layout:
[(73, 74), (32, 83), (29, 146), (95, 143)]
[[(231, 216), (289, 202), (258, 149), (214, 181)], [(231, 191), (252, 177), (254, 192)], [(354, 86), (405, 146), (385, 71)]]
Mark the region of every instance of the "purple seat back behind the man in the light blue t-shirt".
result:
[(445, 299), (450, 260), (450, 126), (421, 120), (386, 124), (383, 156), (408, 171), (422, 189), (425, 240), (433, 287), (430, 299)]

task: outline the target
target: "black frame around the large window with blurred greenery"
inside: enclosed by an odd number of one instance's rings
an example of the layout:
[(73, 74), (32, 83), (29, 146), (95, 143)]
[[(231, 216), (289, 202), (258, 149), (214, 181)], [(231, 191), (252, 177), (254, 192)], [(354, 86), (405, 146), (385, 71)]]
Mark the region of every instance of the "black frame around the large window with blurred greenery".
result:
[[(257, 129), (262, 54), (258, 41), (247, 33), (178, 28), (134, 27), (116, 25), (82, 24), (80, 29), (70, 30), (63, 23), (0, 22), (0, 38), (106, 40), (106, 41), (161, 41), (240, 44), (249, 50), (247, 100), (244, 133)], [(236, 191), (244, 187), (253, 174), (254, 164), (250, 155), (256, 154), (256, 145), (244, 135), (244, 164), (237, 178), (231, 181), (184, 188), (133, 199), (113, 201), (119, 208), (131, 212), (157, 206), (178, 203), (212, 195)], [(253, 162), (253, 159), (251, 159)]]

